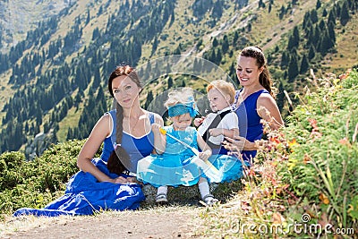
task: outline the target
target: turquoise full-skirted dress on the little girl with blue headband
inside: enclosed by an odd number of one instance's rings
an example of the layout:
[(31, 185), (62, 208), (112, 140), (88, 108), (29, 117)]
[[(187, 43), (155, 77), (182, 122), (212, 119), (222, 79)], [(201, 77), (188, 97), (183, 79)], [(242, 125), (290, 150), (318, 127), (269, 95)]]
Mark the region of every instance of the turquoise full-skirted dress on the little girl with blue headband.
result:
[[(185, 131), (175, 131), (172, 125), (165, 126), (166, 134), (186, 142), (195, 149), (197, 145), (197, 131), (188, 127)], [(137, 179), (143, 184), (192, 186), (200, 178), (200, 168), (193, 163), (198, 159), (191, 149), (166, 136), (166, 151), (163, 154), (151, 154), (138, 162)]]

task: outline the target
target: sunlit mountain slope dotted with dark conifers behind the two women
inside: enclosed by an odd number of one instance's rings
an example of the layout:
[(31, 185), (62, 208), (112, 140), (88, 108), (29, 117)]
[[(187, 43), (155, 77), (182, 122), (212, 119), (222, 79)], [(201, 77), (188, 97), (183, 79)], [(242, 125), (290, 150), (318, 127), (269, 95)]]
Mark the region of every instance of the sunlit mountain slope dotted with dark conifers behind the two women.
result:
[[(310, 69), (339, 73), (357, 65), (357, 10), (354, 0), (70, 1), (0, 54), (0, 150), (32, 157), (53, 142), (86, 138), (111, 106), (106, 83), (117, 64), (192, 55), (234, 80), (235, 57), (247, 45), (264, 48), (287, 115), (296, 99), (288, 104), (284, 90), (300, 91)], [(202, 90), (195, 80), (163, 75), (146, 86), (141, 103), (149, 106), (170, 87)]]

